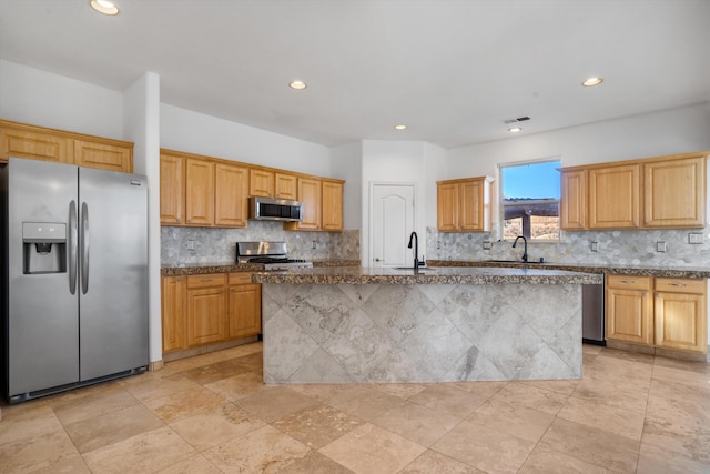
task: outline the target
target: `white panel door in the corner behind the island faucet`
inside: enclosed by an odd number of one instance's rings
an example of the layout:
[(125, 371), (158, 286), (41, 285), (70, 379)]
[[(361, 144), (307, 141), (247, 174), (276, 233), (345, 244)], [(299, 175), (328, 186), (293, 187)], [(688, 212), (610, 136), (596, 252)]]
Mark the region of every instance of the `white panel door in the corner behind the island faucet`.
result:
[(412, 266), (414, 251), (407, 244), (414, 231), (414, 184), (374, 184), (372, 199), (371, 265)]

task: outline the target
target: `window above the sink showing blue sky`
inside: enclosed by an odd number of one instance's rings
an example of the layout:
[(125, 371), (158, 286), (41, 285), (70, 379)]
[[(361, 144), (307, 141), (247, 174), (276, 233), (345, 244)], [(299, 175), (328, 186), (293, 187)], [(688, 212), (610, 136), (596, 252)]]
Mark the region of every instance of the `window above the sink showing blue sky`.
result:
[(559, 240), (559, 160), (500, 165), (503, 238)]

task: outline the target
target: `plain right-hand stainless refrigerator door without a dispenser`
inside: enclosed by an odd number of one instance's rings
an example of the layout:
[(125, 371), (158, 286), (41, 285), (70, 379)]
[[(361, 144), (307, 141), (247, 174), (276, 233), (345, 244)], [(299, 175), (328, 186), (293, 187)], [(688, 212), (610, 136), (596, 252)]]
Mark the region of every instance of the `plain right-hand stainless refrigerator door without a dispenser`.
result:
[(78, 292), (85, 381), (148, 365), (148, 186), (138, 174), (80, 168), (79, 175), (87, 225), (79, 254), (89, 259), (79, 264), (87, 291)]

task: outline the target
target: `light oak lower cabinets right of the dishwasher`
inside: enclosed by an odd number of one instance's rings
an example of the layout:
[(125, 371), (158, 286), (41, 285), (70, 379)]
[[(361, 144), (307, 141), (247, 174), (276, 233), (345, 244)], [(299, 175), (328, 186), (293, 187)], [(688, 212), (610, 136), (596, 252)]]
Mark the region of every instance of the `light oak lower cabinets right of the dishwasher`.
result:
[(608, 275), (607, 339), (707, 353), (704, 279)]

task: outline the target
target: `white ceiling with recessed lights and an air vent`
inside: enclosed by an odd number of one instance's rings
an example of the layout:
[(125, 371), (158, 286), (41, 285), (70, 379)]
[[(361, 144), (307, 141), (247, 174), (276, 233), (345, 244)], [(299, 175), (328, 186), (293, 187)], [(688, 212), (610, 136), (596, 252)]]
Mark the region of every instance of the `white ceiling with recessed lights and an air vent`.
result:
[(455, 148), (510, 138), (509, 118), (527, 134), (710, 100), (710, 0), (115, 2), (0, 0), (0, 58), (118, 91), (152, 71), (164, 103), (328, 147)]

